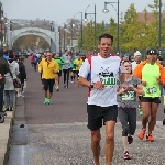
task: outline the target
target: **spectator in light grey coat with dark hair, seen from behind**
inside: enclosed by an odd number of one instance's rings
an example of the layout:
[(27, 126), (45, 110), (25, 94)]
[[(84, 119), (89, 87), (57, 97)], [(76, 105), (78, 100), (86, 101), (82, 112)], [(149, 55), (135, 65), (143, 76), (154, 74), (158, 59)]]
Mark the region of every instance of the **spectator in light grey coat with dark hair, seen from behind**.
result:
[(4, 84), (4, 110), (12, 111), (13, 110), (13, 100), (15, 88), (13, 86), (13, 79), (16, 79), (19, 75), (19, 64), (14, 62), (13, 51), (9, 50), (9, 72), (4, 75), (6, 76), (6, 84)]

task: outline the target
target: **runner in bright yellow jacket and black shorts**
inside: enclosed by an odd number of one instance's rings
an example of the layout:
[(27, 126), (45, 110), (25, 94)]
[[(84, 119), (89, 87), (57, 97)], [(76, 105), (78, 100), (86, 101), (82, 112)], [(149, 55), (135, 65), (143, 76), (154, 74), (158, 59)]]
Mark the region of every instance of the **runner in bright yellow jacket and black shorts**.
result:
[[(38, 72), (42, 73), (44, 82), (45, 99), (44, 103), (50, 105), (53, 96), (53, 86), (55, 84), (55, 74), (59, 70), (58, 64), (52, 58), (52, 52), (46, 53), (46, 58), (38, 64)], [(47, 90), (50, 94), (47, 95)]]

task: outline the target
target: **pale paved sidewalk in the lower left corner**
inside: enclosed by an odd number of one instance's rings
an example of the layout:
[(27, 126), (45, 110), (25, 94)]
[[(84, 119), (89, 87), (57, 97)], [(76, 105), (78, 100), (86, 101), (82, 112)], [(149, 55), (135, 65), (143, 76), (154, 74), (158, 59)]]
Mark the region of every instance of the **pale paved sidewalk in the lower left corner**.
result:
[(6, 165), (8, 161), (8, 142), (12, 124), (12, 112), (7, 112), (4, 123), (0, 123), (0, 165)]

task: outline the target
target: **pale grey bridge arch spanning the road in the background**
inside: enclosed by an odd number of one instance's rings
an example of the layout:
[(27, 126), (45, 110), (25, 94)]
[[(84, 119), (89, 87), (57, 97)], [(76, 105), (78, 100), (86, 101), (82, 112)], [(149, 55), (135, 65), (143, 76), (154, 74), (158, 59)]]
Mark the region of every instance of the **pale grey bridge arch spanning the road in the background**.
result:
[(52, 52), (59, 52), (58, 25), (55, 21), (47, 20), (20, 20), (13, 19), (7, 22), (7, 41), (9, 48), (14, 42), (24, 35), (37, 35), (50, 44)]

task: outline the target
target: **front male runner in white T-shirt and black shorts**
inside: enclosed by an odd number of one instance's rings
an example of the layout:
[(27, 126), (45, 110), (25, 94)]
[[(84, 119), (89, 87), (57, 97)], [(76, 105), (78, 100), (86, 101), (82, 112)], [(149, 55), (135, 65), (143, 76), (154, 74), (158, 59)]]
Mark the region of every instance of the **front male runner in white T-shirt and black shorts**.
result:
[[(114, 151), (114, 125), (118, 117), (117, 79), (122, 73), (121, 58), (112, 56), (113, 36), (99, 36), (99, 54), (89, 56), (79, 70), (79, 85), (89, 88), (87, 113), (91, 132), (95, 165), (100, 165), (100, 128), (106, 124), (106, 165), (111, 165)], [(120, 76), (121, 77), (121, 76)]]

